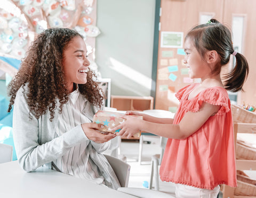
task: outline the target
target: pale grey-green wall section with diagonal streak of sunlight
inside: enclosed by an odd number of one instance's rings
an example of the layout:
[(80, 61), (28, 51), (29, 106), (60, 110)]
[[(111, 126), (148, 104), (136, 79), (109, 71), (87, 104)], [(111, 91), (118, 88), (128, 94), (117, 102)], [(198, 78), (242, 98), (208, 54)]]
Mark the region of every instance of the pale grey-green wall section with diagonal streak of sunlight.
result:
[(150, 96), (155, 0), (98, 0), (95, 62), (111, 94)]

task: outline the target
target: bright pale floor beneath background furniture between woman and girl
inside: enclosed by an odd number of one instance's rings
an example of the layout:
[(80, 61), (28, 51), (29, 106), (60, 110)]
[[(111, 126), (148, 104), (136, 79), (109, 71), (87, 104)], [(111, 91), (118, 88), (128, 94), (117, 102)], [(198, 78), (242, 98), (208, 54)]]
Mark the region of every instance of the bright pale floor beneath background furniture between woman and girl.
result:
[[(147, 183), (149, 183), (150, 180), (151, 156), (161, 152), (158, 136), (144, 136), (143, 140), (141, 165), (139, 165), (138, 162), (139, 141), (122, 140), (121, 143), (121, 154), (126, 156), (127, 163), (131, 165), (128, 187), (146, 188)], [(244, 170), (244, 172), (251, 178), (256, 179), (256, 171)], [(162, 182), (159, 179), (159, 191), (174, 195), (174, 189), (175, 188), (171, 183)], [(219, 197), (222, 197), (221, 193)]]

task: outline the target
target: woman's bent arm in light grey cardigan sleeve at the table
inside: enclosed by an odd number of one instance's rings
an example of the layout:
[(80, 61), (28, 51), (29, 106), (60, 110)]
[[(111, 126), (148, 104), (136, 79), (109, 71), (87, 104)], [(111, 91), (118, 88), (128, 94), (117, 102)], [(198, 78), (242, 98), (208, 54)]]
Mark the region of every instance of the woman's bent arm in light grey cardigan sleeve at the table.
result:
[(29, 107), (22, 91), (21, 88), (17, 92), (13, 107), (13, 137), (18, 162), (24, 170), (35, 170), (63, 156), (76, 144), (85, 141), (90, 143), (81, 125), (54, 138), (53, 126), (56, 119), (51, 123), (49, 117), (37, 119), (33, 114), (30, 114), (30, 119)]

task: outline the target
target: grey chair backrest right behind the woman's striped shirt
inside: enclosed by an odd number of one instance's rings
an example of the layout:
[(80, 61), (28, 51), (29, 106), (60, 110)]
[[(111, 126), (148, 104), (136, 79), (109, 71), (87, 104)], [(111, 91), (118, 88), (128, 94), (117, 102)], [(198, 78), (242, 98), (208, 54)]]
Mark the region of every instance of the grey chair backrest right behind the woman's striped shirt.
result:
[(107, 158), (110, 166), (113, 168), (121, 187), (127, 187), (129, 183), (131, 166), (118, 158), (108, 156), (107, 154), (104, 154), (104, 156)]

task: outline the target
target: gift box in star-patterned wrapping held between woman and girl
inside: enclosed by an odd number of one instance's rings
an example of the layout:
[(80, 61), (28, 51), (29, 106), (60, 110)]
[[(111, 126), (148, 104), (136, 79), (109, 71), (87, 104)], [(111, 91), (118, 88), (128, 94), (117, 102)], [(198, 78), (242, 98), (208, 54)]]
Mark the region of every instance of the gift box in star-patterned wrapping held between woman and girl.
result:
[[(106, 110), (99, 110), (94, 116), (93, 116), (93, 123), (102, 124), (104, 127), (100, 130), (102, 132), (109, 132), (109, 133), (117, 133), (120, 130), (117, 130), (115, 132), (110, 131), (111, 128), (114, 128), (115, 126), (122, 124), (125, 122), (125, 118), (123, 118), (125, 114), (117, 113), (113, 111), (106, 111)], [(139, 117), (140, 119), (143, 119), (142, 116), (137, 115), (129, 115), (134, 117)], [(135, 133), (134, 137), (140, 137), (141, 132)]]

